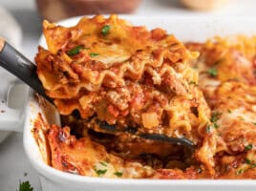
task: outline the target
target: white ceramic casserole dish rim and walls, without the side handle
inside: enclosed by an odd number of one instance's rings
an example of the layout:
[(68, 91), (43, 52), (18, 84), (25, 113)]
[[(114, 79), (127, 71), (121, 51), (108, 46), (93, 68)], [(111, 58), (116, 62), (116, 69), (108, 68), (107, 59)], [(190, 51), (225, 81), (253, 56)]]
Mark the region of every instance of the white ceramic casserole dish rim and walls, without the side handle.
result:
[[(198, 18), (198, 17), (138, 17), (121, 16), (134, 25), (145, 25), (149, 29), (163, 28), (174, 33), (182, 41), (204, 41), (207, 37), (227, 34), (256, 34), (256, 21), (248, 18)], [(78, 18), (60, 22), (61, 25), (75, 25)], [(45, 46), (43, 38), (40, 44)], [(50, 114), (59, 122), (55, 111)], [(256, 180), (115, 180), (82, 177), (53, 169), (48, 166), (39, 152), (32, 137), (33, 121), (42, 109), (32, 96), (26, 107), (24, 127), (24, 147), (32, 166), (39, 173), (43, 191), (139, 191), (139, 190), (176, 190), (176, 191), (239, 191), (256, 190)]]

